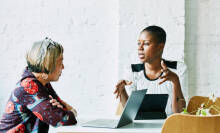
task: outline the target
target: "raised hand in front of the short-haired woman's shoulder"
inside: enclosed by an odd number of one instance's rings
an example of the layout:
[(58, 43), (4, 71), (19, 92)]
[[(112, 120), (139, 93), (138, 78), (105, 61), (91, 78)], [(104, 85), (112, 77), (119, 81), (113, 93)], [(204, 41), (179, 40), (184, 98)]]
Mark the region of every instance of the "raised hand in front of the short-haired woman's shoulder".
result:
[(159, 78), (161, 79), (161, 81), (159, 82), (159, 84), (164, 83), (165, 81), (169, 80), (173, 83), (176, 83), (179, 81), (178, 76), (176, 75), (176, 73), (170, 71), (166, 64), (164, 63), (164, 61), (161, 61), (161, 66), (162, 66), (162, 72), (164, 73), (162, 76), (160, 76)]

